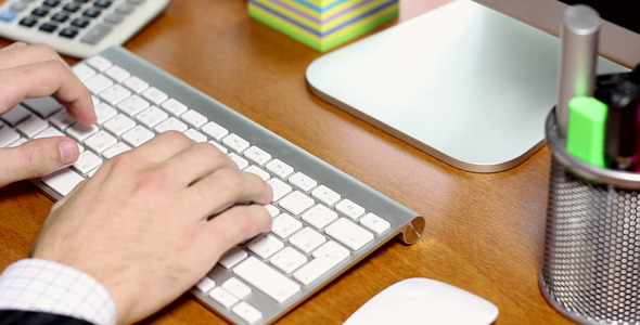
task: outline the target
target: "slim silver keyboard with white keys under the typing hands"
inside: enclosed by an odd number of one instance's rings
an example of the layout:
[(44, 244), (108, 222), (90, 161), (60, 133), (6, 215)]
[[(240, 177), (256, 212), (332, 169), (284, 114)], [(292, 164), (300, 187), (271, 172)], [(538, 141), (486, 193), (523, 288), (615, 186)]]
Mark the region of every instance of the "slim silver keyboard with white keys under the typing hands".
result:
[(418, 213), (120, 47), (73, 69), (93, 94), (97, 125), (76, 123), (52, 98), (0, 116), (0, 147), (62, 134), (80, 144), (71, 168), (34, 181), (54, 198), (167, 130), (216, 145), (273, 187), (271, 232), (228, 251), (192, 289), (230, 322), (271, 323), (396, 235), (412, 244), (424, 232)]

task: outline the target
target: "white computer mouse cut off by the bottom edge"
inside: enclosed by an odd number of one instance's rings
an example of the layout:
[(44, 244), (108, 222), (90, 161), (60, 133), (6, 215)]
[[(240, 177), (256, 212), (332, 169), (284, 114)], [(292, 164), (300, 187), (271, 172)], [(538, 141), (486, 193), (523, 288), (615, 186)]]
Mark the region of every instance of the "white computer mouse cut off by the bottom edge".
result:
[(498, 308), (482, 297), (436, 280), (412, 277), (375, 295), (344, 325), (487, 325), (497, 317)]

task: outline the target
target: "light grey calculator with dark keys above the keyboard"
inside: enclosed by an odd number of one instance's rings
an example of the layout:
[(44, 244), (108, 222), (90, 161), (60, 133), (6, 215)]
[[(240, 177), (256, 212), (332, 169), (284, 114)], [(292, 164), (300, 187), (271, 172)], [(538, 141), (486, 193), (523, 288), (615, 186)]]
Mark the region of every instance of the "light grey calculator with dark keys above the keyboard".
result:
[(123, 44), (170, 0), (5, 0), (0, 36), (87, 57)]

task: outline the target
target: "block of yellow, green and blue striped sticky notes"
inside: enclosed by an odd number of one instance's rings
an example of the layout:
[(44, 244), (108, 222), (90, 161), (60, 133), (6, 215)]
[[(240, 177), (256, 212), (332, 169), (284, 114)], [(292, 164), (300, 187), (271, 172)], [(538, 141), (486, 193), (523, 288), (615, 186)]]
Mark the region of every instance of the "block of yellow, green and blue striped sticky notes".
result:
[(248, 13), (327, 51), (398, 17), (399, 0), (249, 0)]

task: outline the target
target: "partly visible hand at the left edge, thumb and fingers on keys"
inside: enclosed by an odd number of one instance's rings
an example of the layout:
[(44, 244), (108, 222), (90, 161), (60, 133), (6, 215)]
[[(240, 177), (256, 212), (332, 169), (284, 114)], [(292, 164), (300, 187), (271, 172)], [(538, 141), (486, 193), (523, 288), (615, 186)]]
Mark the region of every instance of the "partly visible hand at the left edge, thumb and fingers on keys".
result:
[[(25, 99), (53, 95), (78, 121), (95, 122), (91, 93), (49, 46), (14, 43), (0, 49), (0, 115)], [(69, 166), (78, 154), (76, 142), (65, 136), (0, 148), (0, 186)]]

